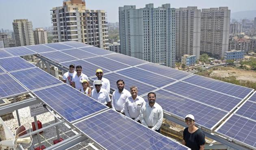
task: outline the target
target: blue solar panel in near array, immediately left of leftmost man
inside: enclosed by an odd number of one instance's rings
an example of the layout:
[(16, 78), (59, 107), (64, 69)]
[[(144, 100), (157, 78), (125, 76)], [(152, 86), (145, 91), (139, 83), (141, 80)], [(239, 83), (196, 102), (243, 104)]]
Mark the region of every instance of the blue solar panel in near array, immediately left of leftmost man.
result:
[(61, 80), (39, 68), (11, 72), (11, 75), (30, 91), (62, 83)]

